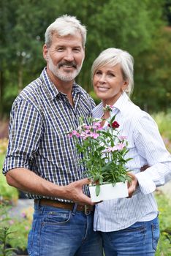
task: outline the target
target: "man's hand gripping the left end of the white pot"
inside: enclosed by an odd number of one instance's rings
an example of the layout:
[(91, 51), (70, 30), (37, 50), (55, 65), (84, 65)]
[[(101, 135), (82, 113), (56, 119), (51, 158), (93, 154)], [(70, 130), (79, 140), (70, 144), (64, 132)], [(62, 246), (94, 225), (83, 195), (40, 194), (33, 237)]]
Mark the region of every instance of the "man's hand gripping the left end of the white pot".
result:
[(72, 200), (75, 203), (82, 205), (92, 205), (91, 198), (83, 194), (83, 185), (90, 184), (91, 181), (88, 178), (83, 178), (80, 181), (75, 181), (65, 186), (65, 199)]

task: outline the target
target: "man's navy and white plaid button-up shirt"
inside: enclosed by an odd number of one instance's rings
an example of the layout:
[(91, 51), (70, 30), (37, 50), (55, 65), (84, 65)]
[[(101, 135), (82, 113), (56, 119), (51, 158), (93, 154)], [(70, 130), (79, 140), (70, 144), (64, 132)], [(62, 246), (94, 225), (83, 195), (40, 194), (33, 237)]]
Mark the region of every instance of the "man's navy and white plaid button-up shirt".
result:
[[(83, 178), (81, 155), (66, 132), (79, 126), (80, 116), (88, 124), (95, 105), (77, 83), (73, 84), (72, 97), (74, 106), (69, 104), (66, 94), (56, 89), (46, 69), (21, 91), (12, 105), (4, 174), (24, 167), (58, 185)], [(84, 192), (88, 195), (87, 187)], [(39, 198), (31, 194), (28, 197)]]

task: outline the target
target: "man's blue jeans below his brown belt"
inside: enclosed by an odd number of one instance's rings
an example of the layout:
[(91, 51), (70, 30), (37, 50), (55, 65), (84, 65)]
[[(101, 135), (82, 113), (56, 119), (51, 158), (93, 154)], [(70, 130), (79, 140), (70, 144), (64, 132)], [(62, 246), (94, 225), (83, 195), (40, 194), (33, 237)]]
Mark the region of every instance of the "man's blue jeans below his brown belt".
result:
[(102, 256), (102, 238), (93, 230), (94, 213), (34, 205), (28, 235), (30, 256)]

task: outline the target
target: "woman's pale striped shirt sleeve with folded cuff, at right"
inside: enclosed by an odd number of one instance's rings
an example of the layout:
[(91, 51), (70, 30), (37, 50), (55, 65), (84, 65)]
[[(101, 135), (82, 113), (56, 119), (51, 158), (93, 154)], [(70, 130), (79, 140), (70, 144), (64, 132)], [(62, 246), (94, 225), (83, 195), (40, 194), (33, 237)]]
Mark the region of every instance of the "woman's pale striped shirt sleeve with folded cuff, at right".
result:
[(150, 166), (136, 174), (141, 192), (148, 194), (170, 181), (171, 155), (164, 146), (156, 122), (149, 115), (143, 116), (134, 130), (134, 143)]

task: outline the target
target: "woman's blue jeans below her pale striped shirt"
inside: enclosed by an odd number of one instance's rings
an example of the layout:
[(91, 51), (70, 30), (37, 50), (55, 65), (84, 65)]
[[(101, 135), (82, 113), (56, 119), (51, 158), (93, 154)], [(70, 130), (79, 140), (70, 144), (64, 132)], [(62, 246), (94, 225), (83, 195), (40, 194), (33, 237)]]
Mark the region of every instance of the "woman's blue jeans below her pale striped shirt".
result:
[(102, 232), (105, 256), (153, 256), (159, 240), (158, 217), (149, 222), (136, 222), (119, 231)]

